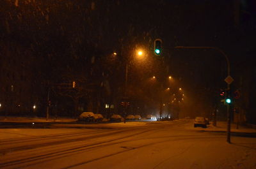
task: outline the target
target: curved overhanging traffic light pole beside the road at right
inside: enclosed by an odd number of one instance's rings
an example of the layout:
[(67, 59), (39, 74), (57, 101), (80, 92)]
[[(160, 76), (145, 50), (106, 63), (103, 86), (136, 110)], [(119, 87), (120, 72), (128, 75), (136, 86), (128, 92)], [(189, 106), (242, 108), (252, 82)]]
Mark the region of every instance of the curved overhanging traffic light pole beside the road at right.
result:
[[(225, 54), (225, 52), (223, 52), (223, 50), (221, 50), (218, 47), (174, 47), (174, 48), (208, 48), (208, 49), (214, 49), (217, 50), (218, 52), (220, 52), (222, 55), (225, 56), (226, 62), (227, 62), (227, 77), (230, 76), (230, 62), (228, 59), (228, 56)], [(230, 91), (230, 84), (227, 83), (227, 93), (229, 93)], [(227, 142), (230, 143), (230, 119), (231, 119), (231, 114), (229, 112), (229, 104), (227, 104)]]

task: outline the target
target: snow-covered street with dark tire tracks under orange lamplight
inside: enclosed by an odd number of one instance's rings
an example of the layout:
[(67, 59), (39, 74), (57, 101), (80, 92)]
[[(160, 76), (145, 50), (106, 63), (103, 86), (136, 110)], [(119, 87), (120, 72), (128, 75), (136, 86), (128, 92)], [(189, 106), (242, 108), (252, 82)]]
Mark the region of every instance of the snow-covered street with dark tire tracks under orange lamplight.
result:
[(256, 168), (255, 136), (193, 121), (0, 129), (0, 168)]

